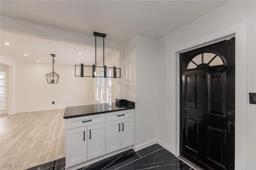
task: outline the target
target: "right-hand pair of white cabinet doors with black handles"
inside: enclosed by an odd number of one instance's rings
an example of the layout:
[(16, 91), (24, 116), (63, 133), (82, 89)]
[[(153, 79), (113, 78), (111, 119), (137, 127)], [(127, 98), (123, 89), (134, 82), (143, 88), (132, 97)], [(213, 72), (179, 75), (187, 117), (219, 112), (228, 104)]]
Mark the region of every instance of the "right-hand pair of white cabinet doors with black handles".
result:
[(134, 118), (106, 122), (106, 154), (134, 144)]

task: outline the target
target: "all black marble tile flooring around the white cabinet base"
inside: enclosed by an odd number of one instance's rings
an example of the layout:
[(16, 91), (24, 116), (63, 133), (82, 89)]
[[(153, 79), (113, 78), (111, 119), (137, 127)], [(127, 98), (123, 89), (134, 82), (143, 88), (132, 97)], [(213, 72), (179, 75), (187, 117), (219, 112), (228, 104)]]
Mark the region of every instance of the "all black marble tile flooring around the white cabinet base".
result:
[[(140, 155), (139, 155), (140, 154)], [(143, 157), (144, 156), (144, 157)], [(65, 158), (29, 168), (28, 170), (64, 170)], [(116, 154), (90, 166), (78, 170), (194, 170), (168, 150), (155, 144), (140, 150), (130, 149)]]

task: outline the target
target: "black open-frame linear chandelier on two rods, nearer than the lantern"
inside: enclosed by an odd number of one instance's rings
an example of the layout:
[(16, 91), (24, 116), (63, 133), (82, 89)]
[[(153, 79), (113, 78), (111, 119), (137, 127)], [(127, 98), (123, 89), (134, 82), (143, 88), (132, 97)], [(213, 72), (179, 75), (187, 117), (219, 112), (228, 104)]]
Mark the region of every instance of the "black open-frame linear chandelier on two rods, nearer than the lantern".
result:
[[(121, 68), (117, 68), (117, 67), (106, 67), (105, 63), (104, 63), (104, 38), (106, 37), (106, 34), (102, 34), (102, 33), (98, 33), (98, 32), (94, 32), (93, 34), (95, 36), (95, 64), (91, 65), (84, 65), (83, 63), (81, 63), (81, 65), (75, 65), (75, 76), (76, 77), (104, 77), (104, 78), (108, 78), (108, 77), (112, 77), (112, 78), (120, 78), (121, 76)], [(103, 38), (103, 67), (97, 66), (97, 59), (96, 59), (96, 38), (97, 37), (102, 37)], [(76, 67), (80, 66), (80, 75), (76, 75)], [(92, 67), (92, 75), (85, 75), (84, 74), (84, 68), (85, 67)], [(104, 76), (96, 76), (96, 68), (103, 68), (103, 72), (104, 72)], [(107, 70), (113, 70), (113, 76), (108, 76), (107, 75)], [(117, 76), (117, 71), (119, 72), (119, 76)]]

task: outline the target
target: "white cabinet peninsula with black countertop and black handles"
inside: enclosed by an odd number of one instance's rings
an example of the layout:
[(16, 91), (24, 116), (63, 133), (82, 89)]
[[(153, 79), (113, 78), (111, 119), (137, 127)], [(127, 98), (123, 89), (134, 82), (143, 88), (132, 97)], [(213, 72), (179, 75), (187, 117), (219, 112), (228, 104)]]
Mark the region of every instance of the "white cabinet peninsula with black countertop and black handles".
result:
[(116, 99), (66, 107), (66, 169), (75, 170), (132, 148), (135, 103)]

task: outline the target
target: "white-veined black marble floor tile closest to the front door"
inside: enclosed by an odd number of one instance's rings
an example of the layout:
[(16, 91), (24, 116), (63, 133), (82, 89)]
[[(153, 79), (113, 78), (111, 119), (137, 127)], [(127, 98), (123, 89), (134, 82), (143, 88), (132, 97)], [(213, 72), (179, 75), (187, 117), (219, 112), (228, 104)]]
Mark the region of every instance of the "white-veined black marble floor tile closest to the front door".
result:
[(160, 149), (152, 154), (131, 162), (118, 170), (190, 170), (191, 167), (176, 158), (166, 149)]

